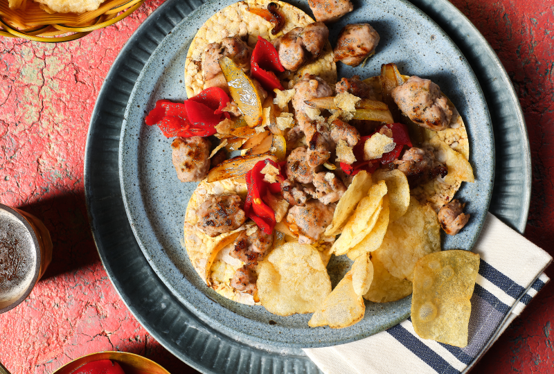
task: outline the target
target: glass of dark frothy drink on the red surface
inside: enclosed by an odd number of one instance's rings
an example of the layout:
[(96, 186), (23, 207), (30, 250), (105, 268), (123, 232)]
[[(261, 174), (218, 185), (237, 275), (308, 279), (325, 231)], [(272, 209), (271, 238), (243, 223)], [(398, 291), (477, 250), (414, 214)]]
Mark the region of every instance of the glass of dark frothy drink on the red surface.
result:
[(26, 299), (51, 260), (46, 226), (34, 215), (0, 204), (0, 313)]

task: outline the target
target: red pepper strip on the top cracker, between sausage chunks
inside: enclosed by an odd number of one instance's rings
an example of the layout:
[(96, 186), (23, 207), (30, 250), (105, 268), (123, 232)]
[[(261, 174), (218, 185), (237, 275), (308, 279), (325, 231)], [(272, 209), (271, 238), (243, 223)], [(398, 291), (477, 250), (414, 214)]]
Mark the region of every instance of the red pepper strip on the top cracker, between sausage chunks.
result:
[(285, 68), (279, 61), (279, 55), (273, 44), (263, 37), (258, 36), (258, 42), (252, 51), (250, 66), (252, 77), (258, 80), (262, 87), (268, 91), (284, 89), (275, 75), (275, 71), (282, 73)]

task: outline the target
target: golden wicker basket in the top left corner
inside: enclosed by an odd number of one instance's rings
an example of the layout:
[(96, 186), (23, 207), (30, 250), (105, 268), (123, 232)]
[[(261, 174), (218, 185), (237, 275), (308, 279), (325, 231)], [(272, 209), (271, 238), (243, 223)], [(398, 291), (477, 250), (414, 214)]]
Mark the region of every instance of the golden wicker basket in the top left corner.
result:
[(130, 15), (145, 0), (107, 0), (97, 10), (49, 14), (39, 3), (27, 0), (25, 9), (12, 10), (0, 0), (0, 35), (22, 37), (36, 42), (67, 42), (78, 39)]

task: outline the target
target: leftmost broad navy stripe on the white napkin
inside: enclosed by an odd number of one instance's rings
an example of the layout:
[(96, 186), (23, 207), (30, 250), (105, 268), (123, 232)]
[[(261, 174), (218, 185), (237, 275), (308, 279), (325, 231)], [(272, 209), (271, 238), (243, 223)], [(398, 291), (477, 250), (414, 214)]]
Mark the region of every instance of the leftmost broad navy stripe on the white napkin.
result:
[(408, 330), (400, 326), (400, 323), (386, 330), (397, 341), (400, 341), (402, 345), (411, 352), (422, 359), (425, 364), (431, 366), (437, 373), (441, 374), (459, 374), (460, 371), (456, 370), (450, 365), (443, 357), (440, 357), (438, 353), (423, 344), (418, 338), (414, 337)]

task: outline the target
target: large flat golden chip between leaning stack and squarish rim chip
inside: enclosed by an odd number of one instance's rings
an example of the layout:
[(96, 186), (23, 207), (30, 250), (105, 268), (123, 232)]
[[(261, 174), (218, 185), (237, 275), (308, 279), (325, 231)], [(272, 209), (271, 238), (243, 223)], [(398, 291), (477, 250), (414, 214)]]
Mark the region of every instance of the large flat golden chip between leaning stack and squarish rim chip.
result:
[(440, 251), (437, 215), (429, 205), (421, 205), (411, 197), (406, 214), (388, 224), (381, 247), (371, 256), (381, 261), (391, 275), (411, 281), (415, 262), (437, 251)]

